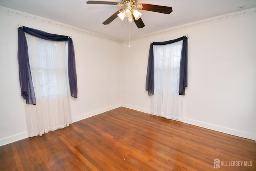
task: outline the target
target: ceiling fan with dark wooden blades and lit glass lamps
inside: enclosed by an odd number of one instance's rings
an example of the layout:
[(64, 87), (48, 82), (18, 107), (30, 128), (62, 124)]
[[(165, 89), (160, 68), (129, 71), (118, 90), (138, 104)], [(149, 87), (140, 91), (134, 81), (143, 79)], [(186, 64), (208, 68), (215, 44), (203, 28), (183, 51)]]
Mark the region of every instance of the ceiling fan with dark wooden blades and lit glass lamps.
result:
[[(106, 4), (106, 5), (118, 5), (124, 6), (124, 8), (115, 12), (112, 16), (110, 16), (106, 21), (102, 24), (110, 24), (114, 19), (119, 17), (122, 21), (124, 18), (128, 18), (128, 22), (132, 22), (134, 20), (136, 26), (138, 28), (143, 28), (145, 24), (143, 23), (141, 17), (141, 13), (138, 10), (146, 10), (146, 11), (153, 11), (153, 12), (160, 12), (163, 14), (170, 14), (172, 12), (172, 7), (168, 6), (159, 6), (159, 5), (152, 5), (152, 4), (142, 4), (137, 3), (138, 0), (122, 0), (122, 2), (109, 2), (109, 1), (94, 1), (89, 0), (87, 4)], [(138, 10), (136, 10), (136, 8)]]

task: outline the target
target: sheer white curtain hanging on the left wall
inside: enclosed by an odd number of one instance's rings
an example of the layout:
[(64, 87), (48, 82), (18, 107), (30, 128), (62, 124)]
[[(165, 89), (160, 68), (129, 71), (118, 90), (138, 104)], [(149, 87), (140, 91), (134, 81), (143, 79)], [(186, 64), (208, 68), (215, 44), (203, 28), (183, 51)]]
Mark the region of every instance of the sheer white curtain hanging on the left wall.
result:
[(67, 42), (26, 34), (36, 105), (25, 104), (29, 137), (71, 124)]

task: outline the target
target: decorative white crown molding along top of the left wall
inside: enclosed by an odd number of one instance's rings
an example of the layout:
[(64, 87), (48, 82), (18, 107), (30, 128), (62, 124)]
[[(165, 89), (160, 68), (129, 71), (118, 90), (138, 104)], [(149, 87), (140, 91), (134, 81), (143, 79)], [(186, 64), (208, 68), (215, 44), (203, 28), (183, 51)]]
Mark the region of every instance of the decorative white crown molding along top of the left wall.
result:
[[(85, 34), (85, 35), (88, 35), (88, 36), (93, 36), (93, 37), (96, 37), (96, 38), (101, 38), (101, 39), (109, 40), (109, 41), (116, 42), (116, 43), (121, 42), (121, 40), (118, 40), (118, 39), (115, 39), (115, 38), (112, 38), (112, 37), (104, 36), (104, 35), (101, 35), (101, 34), (98, 34), (98, 33), (95, 33), (95, 32), (90, 32), (88, 30), (84, 30), (82, 28), (77, 28), (77, 27), (74, 27), (74, 26), (70, 26), (68, 24), (64, 24), (64, 23), (61, 23), (61, 22), (50, 20), (48, 18), (43, 18), (43, 17), (40, 17), (40, 16), (36, 16), (36, 15), (33, 15), (33, 14), (29, 14), (29, 13), (26, 13), (26, 12), (14, 10), (14, 9), (3, 7), (3, 6), (0, 6), (0, 13), (11, 15), (11, 16), (26, 18), (28, 20), (41, 22), (43, 24), (47, 24), (47, 25), (50, 25), (50, 26), (55, 26), (55, 27), (58, 27), (58, 28), (71, 30), (73, 32), (78, 32), (80, 34)], [(20, 24), (20, 23), (17, 23), (17, 24)]]

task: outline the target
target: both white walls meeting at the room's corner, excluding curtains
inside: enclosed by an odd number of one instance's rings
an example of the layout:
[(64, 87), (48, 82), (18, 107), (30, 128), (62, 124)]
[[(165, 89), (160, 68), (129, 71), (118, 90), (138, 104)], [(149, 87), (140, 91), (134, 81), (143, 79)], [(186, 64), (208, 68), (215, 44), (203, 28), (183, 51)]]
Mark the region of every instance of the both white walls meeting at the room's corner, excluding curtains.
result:
[(17, 24), (73, 37), (78, 77), (78, 99), (71, 99), (73, 122), (121, 105), (149, 113), (145, 80), (150, 42), (188, 34), (183, 121), (256, 139), (255, 9), (132, 38), (128, 48), (113, 38), (0, 8), (0, 146), (28, 137)]

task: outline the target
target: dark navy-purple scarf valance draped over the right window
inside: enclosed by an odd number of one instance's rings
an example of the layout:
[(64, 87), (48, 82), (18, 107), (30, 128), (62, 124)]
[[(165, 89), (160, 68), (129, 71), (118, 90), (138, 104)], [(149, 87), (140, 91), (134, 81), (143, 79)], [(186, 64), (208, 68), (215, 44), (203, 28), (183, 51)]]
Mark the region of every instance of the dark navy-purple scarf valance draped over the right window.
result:
[(180, 84), (179, 94), (185, 95), (185, 88), (188, 87), (188, 38), (183, 36), (175, 40), (169, 40), (166, 42), (152, 42), (150, 44), (149, 55), (148, 55), (148, 70), (146, 76), (146, 91), (148, 95), (154, 95), (154, 50), (153, 45), (166, 45), (172, 44), (183, 40), (181, 59), (180, 59)]

